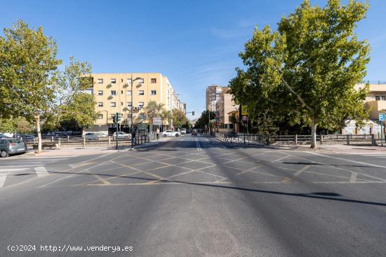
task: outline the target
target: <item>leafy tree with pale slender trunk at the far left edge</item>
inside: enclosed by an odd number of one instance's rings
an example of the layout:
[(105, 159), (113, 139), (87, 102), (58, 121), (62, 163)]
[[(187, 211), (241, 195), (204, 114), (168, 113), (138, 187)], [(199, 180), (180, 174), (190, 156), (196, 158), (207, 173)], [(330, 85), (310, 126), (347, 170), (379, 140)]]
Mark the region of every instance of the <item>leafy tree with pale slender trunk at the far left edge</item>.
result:
[(18, 20), (4, 29), (0, 37), (0, 115), (4, 118), (23, 116), (36, 123), (38, 152), (41, 152), (41, 117), (51, 111), (54, 100), (54, 71), (57, 59), (55, 41), (43, 28), (29, 29)]

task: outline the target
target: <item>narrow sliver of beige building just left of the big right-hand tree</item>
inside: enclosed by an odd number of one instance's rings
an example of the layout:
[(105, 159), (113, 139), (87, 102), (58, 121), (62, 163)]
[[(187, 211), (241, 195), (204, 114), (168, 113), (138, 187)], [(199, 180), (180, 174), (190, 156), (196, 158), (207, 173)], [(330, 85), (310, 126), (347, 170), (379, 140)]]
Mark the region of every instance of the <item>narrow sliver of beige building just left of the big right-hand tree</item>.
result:
[(229, 120), (229, 113), (237, 109), (239, 109), (239, 106), (234, 104), (229, 88), (223, 88), (215, 102), (218, 132), (230, 132), (234, 129), (232, 122)]

